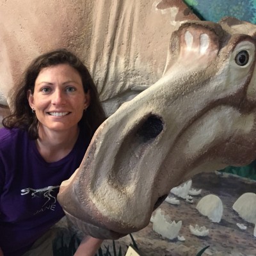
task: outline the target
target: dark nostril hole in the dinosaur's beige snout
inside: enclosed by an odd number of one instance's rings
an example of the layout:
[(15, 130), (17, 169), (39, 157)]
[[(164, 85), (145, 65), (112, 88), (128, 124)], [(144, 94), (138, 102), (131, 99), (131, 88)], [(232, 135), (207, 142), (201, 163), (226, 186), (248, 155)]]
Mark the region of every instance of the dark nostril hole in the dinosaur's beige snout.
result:
[(163, 121), (156, 115), (149, 116), (147, 120), (138, 129), (137, 134), (143, 139), (143, 142), (156, 138), (163, 131)]

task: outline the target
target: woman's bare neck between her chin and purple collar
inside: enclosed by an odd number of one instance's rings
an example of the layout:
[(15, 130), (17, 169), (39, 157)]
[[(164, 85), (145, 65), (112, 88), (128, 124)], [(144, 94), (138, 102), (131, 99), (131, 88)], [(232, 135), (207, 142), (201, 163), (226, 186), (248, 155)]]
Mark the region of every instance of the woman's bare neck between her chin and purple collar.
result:
[(48, 131), (38, 129), (39, 138), (36, 140), (36, 147), (40, 155), (48, 163), (56, 162), (67, 156), (76, 144), (79, 127), (68, 131)]

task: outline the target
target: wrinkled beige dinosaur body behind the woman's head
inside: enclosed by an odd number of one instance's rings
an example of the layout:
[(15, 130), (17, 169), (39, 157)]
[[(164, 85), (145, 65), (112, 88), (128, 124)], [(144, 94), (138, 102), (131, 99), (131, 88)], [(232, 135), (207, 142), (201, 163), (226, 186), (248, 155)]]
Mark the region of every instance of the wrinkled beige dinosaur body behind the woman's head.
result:
[(62, 47), (89, 68), (111, 115), (162, 76), (175, 26), (197, 19), (181, 0), (169, 2), (0, 0), (0, 119), (28, 63)]

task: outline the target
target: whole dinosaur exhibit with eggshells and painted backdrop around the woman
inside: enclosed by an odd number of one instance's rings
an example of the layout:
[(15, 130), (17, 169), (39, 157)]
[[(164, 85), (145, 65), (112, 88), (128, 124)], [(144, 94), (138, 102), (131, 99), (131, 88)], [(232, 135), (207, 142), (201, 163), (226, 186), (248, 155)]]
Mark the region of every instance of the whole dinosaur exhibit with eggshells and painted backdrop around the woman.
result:
[(61, 184), (70, 228), (106, 239), (102, 255), (134, 241), (138, 255), (256, 255), (254, 1), (0, 3), (1, 119), (56, 48), (83, 60), (108, 115)]

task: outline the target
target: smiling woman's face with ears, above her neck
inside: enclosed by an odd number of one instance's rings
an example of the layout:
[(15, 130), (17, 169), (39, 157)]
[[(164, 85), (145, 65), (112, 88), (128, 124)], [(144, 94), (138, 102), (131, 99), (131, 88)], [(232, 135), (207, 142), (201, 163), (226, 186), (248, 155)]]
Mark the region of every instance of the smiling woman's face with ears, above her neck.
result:
[(90, 104), (90, 92), (84, 93), (82, 79), (68, 64), (43, 68), (28, 92), (28, 101), (45, 131), (77, 129), (84, 109)]

